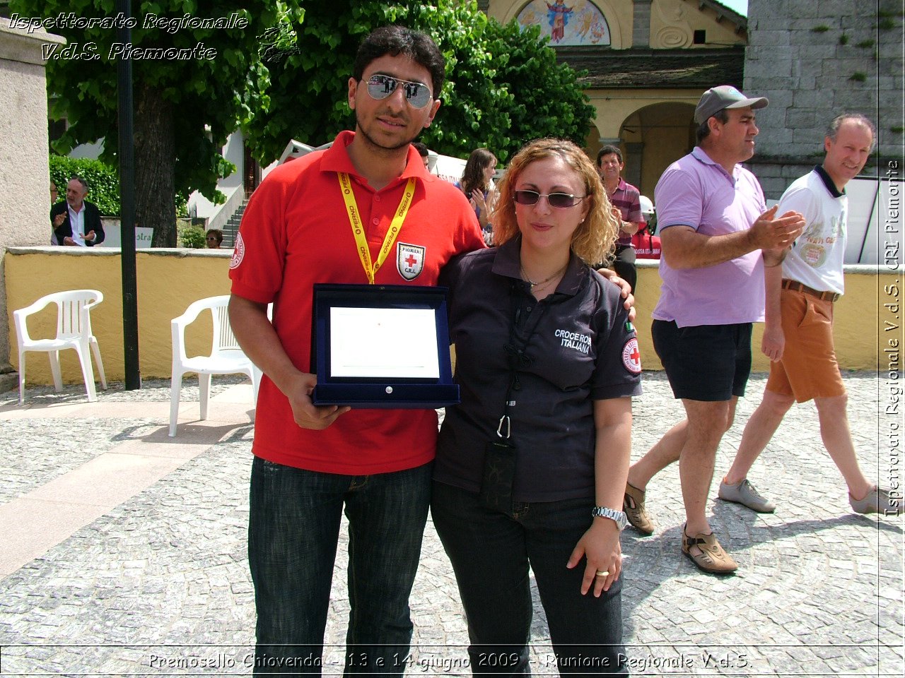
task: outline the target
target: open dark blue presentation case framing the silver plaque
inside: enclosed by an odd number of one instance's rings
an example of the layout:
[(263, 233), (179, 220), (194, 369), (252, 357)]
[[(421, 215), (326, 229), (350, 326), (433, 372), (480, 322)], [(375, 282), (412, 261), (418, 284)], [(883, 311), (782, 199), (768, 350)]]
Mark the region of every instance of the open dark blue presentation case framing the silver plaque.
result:
[[(459, 402), (459, 385), (452, 382), (446, 287), (414, 285), (314, 286), (311, 307), (311, 372), (318, 376), (311, 400), (315, 405), (349, 405), (357, 409), (433, 410)], [(333, 376), (330, 373), (330, 309), (432, 309), (436, 325), (439, 378)], [(367, 342), (367, 336), (361, 341)]]

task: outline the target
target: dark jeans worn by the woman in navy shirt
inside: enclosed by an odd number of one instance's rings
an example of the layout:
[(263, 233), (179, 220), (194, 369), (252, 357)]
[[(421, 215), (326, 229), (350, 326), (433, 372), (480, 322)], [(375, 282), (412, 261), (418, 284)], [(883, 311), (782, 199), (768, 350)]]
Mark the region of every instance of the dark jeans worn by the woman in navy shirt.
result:
[(585, 561), (567, 560), (591, 526), (591, 499), (485, 508), (478, 494), (433, 483), (431, 515), (452, 561), (471, 641), (473, 673), (529, 673), (530, 569), (547, 613), (560, 674), (627, 675), (622, 579), (581, 595)]

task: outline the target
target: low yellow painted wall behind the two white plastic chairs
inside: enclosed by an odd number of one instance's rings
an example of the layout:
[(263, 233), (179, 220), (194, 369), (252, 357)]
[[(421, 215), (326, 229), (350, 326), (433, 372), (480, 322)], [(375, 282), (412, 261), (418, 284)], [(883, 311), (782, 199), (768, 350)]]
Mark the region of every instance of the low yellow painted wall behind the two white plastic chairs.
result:
[[(172, 366), (170, 321), (196, 299), (229, 294), (232, 252), (207, 250), (138, 250), (138, 363), (145, 379), (169, 378)], [(77, 248), (14, 248), (5, 254), (10, 363), (18, 369), (18, 342), (13, 310), (63, 289), (98, 289), (103, 303), (91, 311), (91, 328), (110, 381), (125, 375), (122, 331), (122, 283), (119, 250)], [(56, 306), (33, 315), (33, 338), (56, 332)], [(210, 352), (210, 315), (203, 314), (186, 334), (188, 355)], [(52, 383), (50, 364), (41, 353), (25, 356), (26, 386)], [(74, 351), (61, 353), (63, 381), (81, 382)]]

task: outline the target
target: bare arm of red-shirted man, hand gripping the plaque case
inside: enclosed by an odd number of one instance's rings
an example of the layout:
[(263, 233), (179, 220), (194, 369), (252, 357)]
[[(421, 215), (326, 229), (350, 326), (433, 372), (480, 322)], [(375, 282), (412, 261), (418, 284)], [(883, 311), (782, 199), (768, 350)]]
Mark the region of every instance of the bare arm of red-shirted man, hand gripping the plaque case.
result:
[(292, 416), (301, 428), (328, 428), (339, 415), (351, 410), (335, 405), (317, 407), (311, 402), (317, 375), (301, 372), (292, 364), (267, 318), (266, 304), (233, 294), (229, 301), (229, 320), (245, 355), (289, 399)]

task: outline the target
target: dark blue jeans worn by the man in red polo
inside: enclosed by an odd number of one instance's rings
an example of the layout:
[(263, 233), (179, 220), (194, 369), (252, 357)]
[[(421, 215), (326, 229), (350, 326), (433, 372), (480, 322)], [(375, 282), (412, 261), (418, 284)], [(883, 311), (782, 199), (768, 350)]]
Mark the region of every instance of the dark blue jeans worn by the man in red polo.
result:
[(320, 673), (339, 522), (348, 518), (346, 674), (401, 675), (433, 464), (340, 476), (252, 464), (248, 561), (254, 673)]

